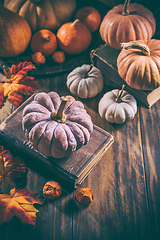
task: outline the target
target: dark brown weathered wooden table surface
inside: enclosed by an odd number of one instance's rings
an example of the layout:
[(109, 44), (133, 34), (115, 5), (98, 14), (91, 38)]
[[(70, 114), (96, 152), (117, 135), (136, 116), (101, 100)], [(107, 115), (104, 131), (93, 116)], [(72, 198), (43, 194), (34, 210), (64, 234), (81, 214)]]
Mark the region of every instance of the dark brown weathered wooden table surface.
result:
[[(37, 79), (42, 91), (66, 95), (67, 72)], [(35, 226), (16, 218), (0, 226), (0, 240), (159, 240), (160, 239), (160, 101), (151, 109), (138, 106), (133, 120), (114, 125), (102, 119), (98, 100), (83, 101), (97, 126), (110, 132), (114, 143), (82, 183), (94, 193), (83, 206), (75, 199), (78, 189), (46, 201)], [(28, 169), (26, 188), (42, 194), (51, 180)], [(5, 183), (1, 192), (9, 193)]]

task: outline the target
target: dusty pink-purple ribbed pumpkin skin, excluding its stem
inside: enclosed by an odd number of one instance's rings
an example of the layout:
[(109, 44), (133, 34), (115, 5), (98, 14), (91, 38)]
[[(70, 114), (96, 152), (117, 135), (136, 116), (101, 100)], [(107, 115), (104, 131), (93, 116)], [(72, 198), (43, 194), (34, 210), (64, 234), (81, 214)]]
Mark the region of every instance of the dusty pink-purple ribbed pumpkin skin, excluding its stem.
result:
[(51, 118), (57, 112), (61, 98), (56, 92), (38, 93), (34, 101), (23, 110), (22, 128), (33, 147), (46, 156), (63, 158), (87, 144), (93, 131), (91, 117), (84, 105), (66, 96), (68, 102), (64, 113), (65, 123), (58, 123)]

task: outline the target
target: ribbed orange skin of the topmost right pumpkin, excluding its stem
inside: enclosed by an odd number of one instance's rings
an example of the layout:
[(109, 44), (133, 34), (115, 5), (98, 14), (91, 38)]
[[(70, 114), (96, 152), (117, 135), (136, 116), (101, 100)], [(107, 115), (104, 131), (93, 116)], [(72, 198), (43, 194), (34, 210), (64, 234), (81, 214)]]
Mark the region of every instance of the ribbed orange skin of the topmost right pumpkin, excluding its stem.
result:
[(122, 42), (149, 40), (155, 33), (156, 22), (149, 9), (132, 3), (128, 10), (129, 14), (124, 16), (123, 4), (115, 6), (100, 25), (101, 38), (115, 49), (121, 49)]

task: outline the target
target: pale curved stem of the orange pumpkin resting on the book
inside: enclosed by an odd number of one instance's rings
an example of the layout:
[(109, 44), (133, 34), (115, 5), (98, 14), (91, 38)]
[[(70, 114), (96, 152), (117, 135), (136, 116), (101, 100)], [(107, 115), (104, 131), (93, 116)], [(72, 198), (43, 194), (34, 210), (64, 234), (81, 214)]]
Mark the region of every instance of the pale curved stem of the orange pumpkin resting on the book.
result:
[(144, 43), (140, 43), (140, 42), (137, 42), (137, 41), (131, 41), (131, 42), (128, 42), (128, 43), (125, 43), (125, 42), (121, 43), (120, 45), (124, 49), (138, 49), (138, 50), (141, 50), (144, 55), (150, 56), (149, 47)]

